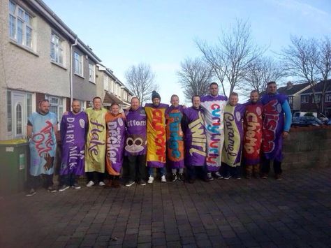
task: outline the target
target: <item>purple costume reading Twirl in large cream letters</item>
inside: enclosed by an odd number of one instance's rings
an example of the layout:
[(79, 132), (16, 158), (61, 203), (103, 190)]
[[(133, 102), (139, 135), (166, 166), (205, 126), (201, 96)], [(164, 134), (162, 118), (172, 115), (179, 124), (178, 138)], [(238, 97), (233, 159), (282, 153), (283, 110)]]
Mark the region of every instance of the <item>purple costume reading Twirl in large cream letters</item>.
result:
[(202, 108), (185, 108), (182, 126), (184, 130), (186, 166), (205, 166), (206, 133)]

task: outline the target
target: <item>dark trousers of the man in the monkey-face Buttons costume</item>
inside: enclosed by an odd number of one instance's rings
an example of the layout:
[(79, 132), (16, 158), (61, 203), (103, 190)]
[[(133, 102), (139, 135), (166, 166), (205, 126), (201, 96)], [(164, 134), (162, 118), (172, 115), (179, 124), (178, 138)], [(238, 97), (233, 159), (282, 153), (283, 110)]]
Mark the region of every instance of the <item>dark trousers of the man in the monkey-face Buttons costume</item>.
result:
[(146, 154), (128, 156), (128, 173), (131, 181), (146, 179)]

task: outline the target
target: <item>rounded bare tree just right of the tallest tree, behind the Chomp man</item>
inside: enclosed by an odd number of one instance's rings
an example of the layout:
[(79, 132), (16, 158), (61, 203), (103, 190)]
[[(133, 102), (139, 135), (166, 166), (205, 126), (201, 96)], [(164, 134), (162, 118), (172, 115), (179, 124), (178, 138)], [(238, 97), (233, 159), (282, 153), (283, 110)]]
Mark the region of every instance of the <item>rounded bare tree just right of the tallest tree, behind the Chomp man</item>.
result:
[(285, 76), (285, 68), (278, 61), (270, 57), (260, 57), (248, 64), (244, 83), (240, 88), (245, 92), (255, 89), (260, 94), (266, 89), (267, 82), (277, 81)]

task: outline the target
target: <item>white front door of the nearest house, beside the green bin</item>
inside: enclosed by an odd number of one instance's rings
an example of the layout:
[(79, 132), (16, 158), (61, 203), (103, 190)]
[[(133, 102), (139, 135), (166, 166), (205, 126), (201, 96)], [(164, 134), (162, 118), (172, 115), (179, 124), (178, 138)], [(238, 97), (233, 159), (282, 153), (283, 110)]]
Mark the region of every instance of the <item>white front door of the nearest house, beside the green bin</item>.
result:
[(24, 129), (27, 124), (26, 109), (24, 94), (13, 92), (13, 138), (20, 138), (26, 133)]

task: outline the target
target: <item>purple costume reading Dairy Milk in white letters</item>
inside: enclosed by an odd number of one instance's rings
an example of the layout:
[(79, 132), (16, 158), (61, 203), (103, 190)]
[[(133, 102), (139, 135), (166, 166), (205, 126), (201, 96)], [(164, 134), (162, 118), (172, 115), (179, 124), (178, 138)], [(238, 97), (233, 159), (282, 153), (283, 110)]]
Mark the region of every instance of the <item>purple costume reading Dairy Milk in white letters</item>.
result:
[(60, 175), (84, 173), (84, 146), (87, 131), (87, 115), (68, 112), (61, 119), (62, 160)]

